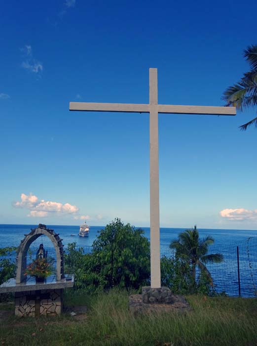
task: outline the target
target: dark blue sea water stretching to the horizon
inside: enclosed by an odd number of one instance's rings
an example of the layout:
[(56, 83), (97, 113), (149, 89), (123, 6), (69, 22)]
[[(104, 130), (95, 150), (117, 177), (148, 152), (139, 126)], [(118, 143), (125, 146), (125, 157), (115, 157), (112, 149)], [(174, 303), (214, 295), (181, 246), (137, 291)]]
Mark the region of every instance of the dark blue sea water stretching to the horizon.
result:
[[(13, 225), (0, 224), (0, 247), (19, 246), (24, 234), (30, 232), (37, 225)], [(69, 243), (76, 242), (77, 246), (90, 251), (90, 246), (95, 240), (98, 231), (104, 226), (91, 226), (88, 237), (78, 236), (79, 226), (47, 225), (54, 229), (63, 239), (65, 247)], [(149, 227), (143, 227), (145, 235), (150, 238)], [(245, 297), (255, 296), (257, 293), (257, 231), (255, 230), (228, 230), (228, 229), (198, 229), (200, 236), (211, 235), (215, 244), (210, 247), (210, 253), (222, 253), (224, 261), (220, 264), (208, 264), (216, 289), (218, 292), (225, 291), (231, 296), (238, 295), (238, 272), (237, 272), (237, 246), (239, 247), (239, 267), (241, 281), (241, 295)], [(161, 255), (171, 256), (170, 242), (177, 238), (184, 228), (160, 228)], [(71, 234), (75, 236), (71, 236)], [(33, 250), (43, 243), (44, 248), (53, 252), (52, 244), (45, 236), (39, 237), (33, 244)]]

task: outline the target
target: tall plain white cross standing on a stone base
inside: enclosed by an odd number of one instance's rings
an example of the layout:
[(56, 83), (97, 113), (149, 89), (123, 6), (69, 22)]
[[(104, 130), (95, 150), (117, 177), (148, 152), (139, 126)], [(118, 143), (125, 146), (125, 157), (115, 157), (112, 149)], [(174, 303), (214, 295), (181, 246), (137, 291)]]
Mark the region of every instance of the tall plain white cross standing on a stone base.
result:
[(157, 69), (149, 69), (149, 104), (70, 102), (70, 111), (150, 113), (151, 287), (161, 287), (158, 113), (235, 115), (235, 107), (158, 104)]

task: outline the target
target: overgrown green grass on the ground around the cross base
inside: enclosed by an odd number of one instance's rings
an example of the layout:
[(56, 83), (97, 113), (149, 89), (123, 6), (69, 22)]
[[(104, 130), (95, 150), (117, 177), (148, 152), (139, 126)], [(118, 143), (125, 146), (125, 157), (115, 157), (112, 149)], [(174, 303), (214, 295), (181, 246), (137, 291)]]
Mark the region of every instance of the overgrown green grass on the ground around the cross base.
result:
[[(85, 315), (4, 319), (0, 345), (256, 346), (257, 299), (187, 296), (184, 314), (134, 316), (128, 293), (65, 295), (67, 305), (87, 305)], [(13, 305), (7, 305), (14, 310)], [(1, 309), (6, 309), (2, 305)]]

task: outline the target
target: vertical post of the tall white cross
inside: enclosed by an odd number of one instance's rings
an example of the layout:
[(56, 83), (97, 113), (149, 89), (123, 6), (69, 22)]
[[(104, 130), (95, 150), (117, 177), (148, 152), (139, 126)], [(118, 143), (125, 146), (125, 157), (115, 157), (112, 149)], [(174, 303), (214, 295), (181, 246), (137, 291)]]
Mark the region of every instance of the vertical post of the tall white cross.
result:
[(151, 287), (161, 287), (157, 69), (149, 69)]

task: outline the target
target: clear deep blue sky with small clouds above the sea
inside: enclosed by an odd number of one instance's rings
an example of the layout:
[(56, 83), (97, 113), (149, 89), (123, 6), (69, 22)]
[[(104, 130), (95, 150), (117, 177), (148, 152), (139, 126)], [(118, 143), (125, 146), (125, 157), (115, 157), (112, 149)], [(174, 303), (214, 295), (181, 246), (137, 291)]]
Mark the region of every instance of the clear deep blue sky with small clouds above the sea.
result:
[[(70, 101), (223, 105), (248, 70), (256, 1), (5, 1), (0, 223), (149, 225), (147, 114)], [(257, 229), (257, 130), (236, 117), (159, 115), (160, 224)], [(220, 215), (220, 212), (223, 211)]]

